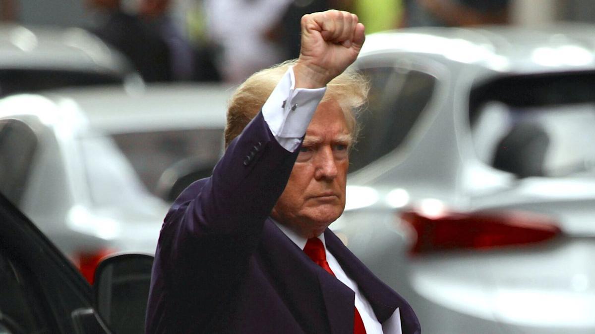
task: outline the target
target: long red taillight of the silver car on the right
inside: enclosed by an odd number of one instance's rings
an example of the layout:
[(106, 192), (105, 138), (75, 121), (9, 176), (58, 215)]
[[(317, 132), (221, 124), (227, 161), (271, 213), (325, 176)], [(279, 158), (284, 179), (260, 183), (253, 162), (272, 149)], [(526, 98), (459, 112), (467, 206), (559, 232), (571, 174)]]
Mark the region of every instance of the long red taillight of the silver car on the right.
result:
[(533, 244), (562, 233), (554, 220), (528, 212), (449, 213), (430, 218), (407, 211), (400, 216), (417, 232), (413, 254)]

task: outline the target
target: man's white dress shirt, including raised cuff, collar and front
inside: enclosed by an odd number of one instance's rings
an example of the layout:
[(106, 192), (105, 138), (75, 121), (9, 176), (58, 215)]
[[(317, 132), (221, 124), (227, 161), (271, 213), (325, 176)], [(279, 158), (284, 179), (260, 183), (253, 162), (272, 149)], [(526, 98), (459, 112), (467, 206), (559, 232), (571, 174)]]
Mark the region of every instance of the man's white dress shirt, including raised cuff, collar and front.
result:
[[(306, 133), (312, 116), (322, 100), (326, 88), (320, 89), (296, 89), (293, 69), (290, 68), (281, 78), (271, 96), (262, 106), (264, 116), (271, 133), (277, 142), (289, 152), (295, 151), (299, 146), (301, 138)], [(277, 223), (277, 226), (295, 242), (297, 247), (303, 248), (307, 240), (300, 237), (291, 229)], [(328, 266), (331, 267), (336, 278), (355, 292), (355, 307), (362, 317), (367, 334), (383, 333), (382, 326), (378, 322), (372, 306), (365, 296), (359, 291), (358, 285), (347, 276), (337, 259), (326, 248), (324, 234), (318, 236), (325, 245)]]

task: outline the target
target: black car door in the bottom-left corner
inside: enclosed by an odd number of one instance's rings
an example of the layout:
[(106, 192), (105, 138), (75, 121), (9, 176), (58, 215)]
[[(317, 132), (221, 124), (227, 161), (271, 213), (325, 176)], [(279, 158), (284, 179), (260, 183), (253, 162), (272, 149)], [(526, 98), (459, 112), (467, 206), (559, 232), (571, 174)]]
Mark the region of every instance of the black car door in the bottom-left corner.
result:
[(73, 265), (0, 194), (0, 333), (110, 333)]

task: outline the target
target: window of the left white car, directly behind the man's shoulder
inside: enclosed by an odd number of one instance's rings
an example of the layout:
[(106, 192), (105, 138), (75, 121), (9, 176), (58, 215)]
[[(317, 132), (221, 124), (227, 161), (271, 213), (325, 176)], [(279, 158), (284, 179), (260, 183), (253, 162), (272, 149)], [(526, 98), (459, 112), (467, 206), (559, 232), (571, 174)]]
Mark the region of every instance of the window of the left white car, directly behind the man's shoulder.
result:
[(176, 163), (192, 160), (196, 168), (208, 165), (212, 170), (223, 152), (223, 128), (121, 133), (112, 137), (154, 194), (161, 175)]

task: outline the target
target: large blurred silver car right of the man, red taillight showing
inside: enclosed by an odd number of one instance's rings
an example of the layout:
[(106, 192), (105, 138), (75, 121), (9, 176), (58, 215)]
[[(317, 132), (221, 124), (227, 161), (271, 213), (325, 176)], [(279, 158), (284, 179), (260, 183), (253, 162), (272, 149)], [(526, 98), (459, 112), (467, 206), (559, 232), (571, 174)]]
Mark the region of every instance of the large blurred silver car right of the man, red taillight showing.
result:
[(331, 228), (424, 333), (595, 332), (595, 28), (368, 36)]

